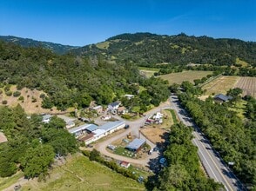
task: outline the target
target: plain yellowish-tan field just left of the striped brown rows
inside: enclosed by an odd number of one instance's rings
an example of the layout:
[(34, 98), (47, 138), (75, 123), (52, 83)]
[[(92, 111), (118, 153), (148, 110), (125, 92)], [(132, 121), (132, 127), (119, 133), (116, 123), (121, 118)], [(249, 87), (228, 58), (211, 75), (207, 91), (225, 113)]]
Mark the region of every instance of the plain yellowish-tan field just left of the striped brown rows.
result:
[(236, 82), (239, 81), (239, 76), (219, 76), (212, 82), (205, 84), (202, 89), (206, 89), (205, 95), (226, 94), (229, 89), (232, 89)]

